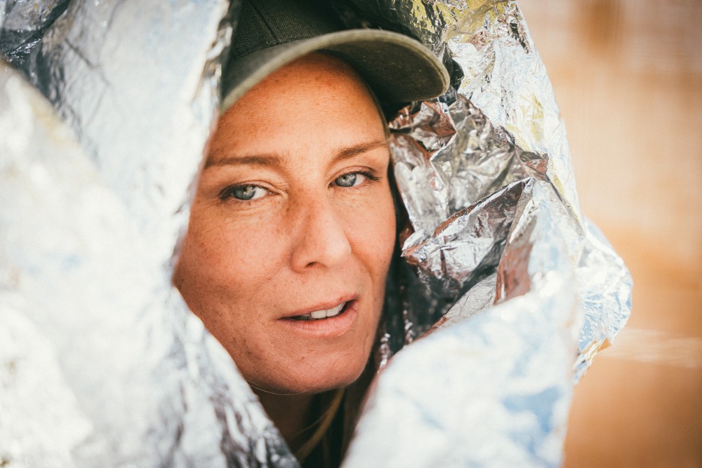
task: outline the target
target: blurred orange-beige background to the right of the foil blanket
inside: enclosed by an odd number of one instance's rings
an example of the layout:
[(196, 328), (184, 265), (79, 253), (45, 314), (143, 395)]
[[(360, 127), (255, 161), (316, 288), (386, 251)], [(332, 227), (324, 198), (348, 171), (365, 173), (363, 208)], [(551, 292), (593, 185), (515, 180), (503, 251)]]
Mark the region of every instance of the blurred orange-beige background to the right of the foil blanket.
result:
[(702, 467), (702, 1), (521, 0), (583, 212), (633, 312), (576, 387), (566, 467)]

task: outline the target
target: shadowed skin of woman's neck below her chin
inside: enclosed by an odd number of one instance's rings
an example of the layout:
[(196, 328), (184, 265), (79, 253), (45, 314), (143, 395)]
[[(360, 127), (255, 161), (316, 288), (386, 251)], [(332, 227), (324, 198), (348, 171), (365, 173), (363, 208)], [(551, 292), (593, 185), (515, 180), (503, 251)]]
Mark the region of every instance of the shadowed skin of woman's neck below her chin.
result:
[(305, 443), (305, 429), (314, 422), (316, 414), (312, 408), (314, 395), (277, 395), (253, 389), (258, 395), (268, 417), (275, 423), (288, 446), (296, 452)]

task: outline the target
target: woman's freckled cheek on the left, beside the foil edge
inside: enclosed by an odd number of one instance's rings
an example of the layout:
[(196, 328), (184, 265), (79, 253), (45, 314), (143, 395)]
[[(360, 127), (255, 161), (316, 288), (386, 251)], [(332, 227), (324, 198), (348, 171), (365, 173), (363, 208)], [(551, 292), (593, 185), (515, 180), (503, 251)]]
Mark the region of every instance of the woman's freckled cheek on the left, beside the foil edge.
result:
[(248, 373), (270, 337), (262, 334), (265, 298), (282, 255), (265, 231), (194, 212), (173, 283), (188, 307)]

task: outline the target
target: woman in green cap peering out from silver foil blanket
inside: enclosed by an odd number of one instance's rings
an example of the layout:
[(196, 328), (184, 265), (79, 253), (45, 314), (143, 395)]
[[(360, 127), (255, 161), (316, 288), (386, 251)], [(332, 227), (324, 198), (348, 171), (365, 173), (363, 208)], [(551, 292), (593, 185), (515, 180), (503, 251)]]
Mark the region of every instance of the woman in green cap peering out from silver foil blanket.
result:
[(378, 101), (448, 86), (416, 41), (341, 29), (324, 3), (244, 4), (174, 276), (310, 465), (343, 455), (395, 250)]

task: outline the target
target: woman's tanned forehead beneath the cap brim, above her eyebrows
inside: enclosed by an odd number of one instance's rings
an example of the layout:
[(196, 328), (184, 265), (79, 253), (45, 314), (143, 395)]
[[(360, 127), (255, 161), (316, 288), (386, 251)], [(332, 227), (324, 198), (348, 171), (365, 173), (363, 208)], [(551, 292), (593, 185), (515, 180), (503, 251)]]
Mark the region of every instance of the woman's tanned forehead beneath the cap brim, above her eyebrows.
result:
[(385, 128), (362, 78), (342, 60), (316, 53), (278, 69), (227, 109), (211, 140), (211, 157), (347, 147), (383, 139)]

